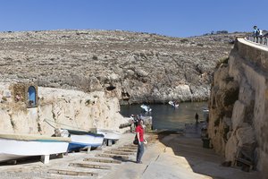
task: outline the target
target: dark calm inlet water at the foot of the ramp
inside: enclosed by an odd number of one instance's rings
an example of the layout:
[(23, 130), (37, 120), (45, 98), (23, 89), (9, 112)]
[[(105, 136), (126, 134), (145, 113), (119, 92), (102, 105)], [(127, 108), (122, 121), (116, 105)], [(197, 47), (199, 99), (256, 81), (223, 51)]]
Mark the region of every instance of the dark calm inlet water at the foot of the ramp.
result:
[(121, 106), (121, 115), (152, 115), (154, 129), (183, 129), (185, 124), (195, 124), (196, 113), (199, 120), (205, 120), (202, 108), (207, 107), (207, 102), (180, 103), (178, 108), (170, 105), (149, 105), (152, 112), (145, 113), (140, 105)]

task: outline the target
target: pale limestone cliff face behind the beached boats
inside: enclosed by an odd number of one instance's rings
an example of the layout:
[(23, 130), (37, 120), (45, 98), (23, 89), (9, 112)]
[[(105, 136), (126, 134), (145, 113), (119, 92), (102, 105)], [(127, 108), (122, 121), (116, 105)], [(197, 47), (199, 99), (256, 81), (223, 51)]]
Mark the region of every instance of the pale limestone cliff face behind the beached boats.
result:
[(0, 103), (0, 131), (46, 135), (53, 134), (54, 127), (125, 131), (119, 129), (127, 121), (119, 114), (118, 98), (106, 98), (105, 92), (38, 88), (38, 98), (38, 107), (32, 108), (22, 102)]

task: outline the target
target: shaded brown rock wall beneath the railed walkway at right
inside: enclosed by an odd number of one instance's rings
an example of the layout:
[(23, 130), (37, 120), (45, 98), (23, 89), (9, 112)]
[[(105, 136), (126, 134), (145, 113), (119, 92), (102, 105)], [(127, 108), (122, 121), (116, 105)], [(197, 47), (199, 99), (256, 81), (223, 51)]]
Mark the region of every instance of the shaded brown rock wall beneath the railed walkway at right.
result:
[(214, 72), (209, 102), (209, 136), (214, 149), (233, 161), (247, 148), (255, 166), (264, 171), (268, 157), (268, 50), (239, 38), (228, 64)]

